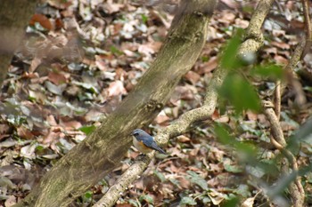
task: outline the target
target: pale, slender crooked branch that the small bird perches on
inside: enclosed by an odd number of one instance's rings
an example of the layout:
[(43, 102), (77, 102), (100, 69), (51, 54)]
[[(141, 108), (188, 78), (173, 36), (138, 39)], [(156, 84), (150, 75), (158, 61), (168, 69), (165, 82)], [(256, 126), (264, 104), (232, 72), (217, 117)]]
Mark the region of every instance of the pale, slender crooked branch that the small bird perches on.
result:
[[(273, 0), (263, 0), (259, 2), (257, 9), (253, 13), (253, 16), (250, 20), (250, 25), (247, 29), (245, 41), (240, 46), (240, 50), (238, 52), (239, 55), (244, 56), (250, 53), (256, 53), (262, 46), (263, 37), (260, 29), (273, 2)], [(218, 100), (217, 88), (221, 86), (225, 77), (226, 69), (217, 68), (217, 71), (214, 73), (213, 78), (207, 86), (203, 106), (195, 108), (186, 112), (184, 115), (181, 115), (176, 122), (170, 124), (167, 128), (160, 131), (155, 139), (158, 140), (160, 144), (165, 145), (168, 142), (168, 139), (187, 131), (188, 127), (192, 123), (208, 119), (216, 108)], [(108, 192), (103, 195), (98, 203), (94, 204), (94, 207), (112, 206), (118, 200), (120, 193), (124, 192), (126, 188), (145, 171), (148, 164), (151, 163), (153, 156), (154, 152), (149, 155), (139, 156), (135, 160), (135, 163), (132, 164), (119, 178), (116, 184), (114, 184), (108, 190)]]

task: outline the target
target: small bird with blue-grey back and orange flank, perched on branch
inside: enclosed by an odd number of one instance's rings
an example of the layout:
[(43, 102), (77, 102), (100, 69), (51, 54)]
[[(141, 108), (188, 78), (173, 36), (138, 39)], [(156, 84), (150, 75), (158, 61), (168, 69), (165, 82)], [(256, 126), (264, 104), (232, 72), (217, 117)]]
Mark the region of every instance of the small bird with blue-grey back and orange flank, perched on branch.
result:
[(133, 145), (137, 150), (143, 154), (152, 152), (152, 149), (159, 151), (161, 154), (166, 154), (166, 152), (158, 147), (154, 138), (143, 130), (136, 129), (132, 131)]

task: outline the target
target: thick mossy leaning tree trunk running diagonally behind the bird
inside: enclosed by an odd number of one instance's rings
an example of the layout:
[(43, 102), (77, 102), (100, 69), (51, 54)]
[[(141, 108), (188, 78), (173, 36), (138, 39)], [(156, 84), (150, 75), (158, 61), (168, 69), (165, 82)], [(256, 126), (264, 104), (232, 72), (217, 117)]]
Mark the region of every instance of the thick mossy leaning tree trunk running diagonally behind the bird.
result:
[(199, 57), (216, 4), (217, 0), (182, 1), (157, 59), (135, 90), (15, 206), (68, 206), (119, 165), (131, 145), (130, 131), (152, 122)]

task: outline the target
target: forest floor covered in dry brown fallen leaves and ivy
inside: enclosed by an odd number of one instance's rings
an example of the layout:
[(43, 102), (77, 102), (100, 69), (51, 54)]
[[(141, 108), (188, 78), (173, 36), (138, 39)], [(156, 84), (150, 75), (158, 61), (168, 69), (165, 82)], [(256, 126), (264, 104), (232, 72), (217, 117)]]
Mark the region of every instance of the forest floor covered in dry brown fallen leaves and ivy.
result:
[[(222, 48), (236, 28), (247, 28), (254, 2), (221, 1), (210, 20), (201, 57), (145, 131), (155, 134), (185, 111), (201, 106)], [(297, 1), (275, 4), (263, 27), (266, 41), (257, 54), (259, 64), (288, 63), (304, 27), (300, 8)], [(26, 196), (53, 163), (85, 139), (131, 92), (157, 56), (176, 9), (177, 1), (127, 0), (48, 0), (37, 8), (0, 96), (0, 206), (11, 206)], [(309, 74), (300, 76), (309, 102), (310, 53), (298, 68)], [(275, 89), (270, 80), (253, 84), (259, 93)], [(296, 107), (295, 98), (287, 87), (281, 114), (287, 137), (311, 115), (310, 104)], [(274, 154), (265, 115), (251, 111), (237, 115), (230, 106), (218, 107), (209, 122), (195, 124), (188, 133), (170, 139), (168, 155), (156, 155), (116, 206), (218, 206), (234, 195), (242, 201), (254, 198), (255, 206), (265, 206), (267, 197), (258, 194), (256, 181), (240, 165), (233, 148), (218, 141), (213, 122), (227, 124), (237, 140), (257, 145), (259, 159), (269, 160)], [(308, 144), (300, 150), (302, 165), (309, 163), (311, 152)], [(120, 167), (73, 206), (92, 206), (138, 154), (129, 148)], [(274, 180), (266, 175), (260, 178)], [(311, 173), (304, 182), (307, 201), (312, 203)]]

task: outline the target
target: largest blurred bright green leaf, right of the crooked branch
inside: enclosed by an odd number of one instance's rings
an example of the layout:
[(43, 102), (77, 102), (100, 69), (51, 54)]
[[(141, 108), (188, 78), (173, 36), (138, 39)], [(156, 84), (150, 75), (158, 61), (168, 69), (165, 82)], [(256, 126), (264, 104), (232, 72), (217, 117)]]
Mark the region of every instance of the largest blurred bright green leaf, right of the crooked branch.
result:
[(219, 95), (241, 113), (244, 109), (259, 111), (260, 100), (253, 86), (238, 74), (229, 74), (219, 89)]

